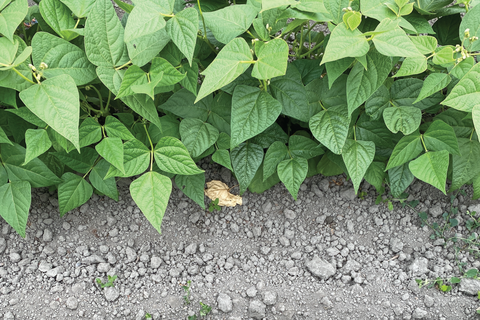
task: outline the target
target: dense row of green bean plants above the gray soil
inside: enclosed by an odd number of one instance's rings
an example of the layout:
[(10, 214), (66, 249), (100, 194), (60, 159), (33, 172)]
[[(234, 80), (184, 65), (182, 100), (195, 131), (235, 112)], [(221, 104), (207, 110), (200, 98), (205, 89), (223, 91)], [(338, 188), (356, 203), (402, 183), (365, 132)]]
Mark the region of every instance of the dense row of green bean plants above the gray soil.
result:
[(241, 194), (344, 173), (480, 196), (480, 1), (115, 2), (0, 0), (0, 215), (21, 236), (32, 188), (63, 216), (125, 177), (160, 232), (173, 183), (205, 208), (210, 156)]

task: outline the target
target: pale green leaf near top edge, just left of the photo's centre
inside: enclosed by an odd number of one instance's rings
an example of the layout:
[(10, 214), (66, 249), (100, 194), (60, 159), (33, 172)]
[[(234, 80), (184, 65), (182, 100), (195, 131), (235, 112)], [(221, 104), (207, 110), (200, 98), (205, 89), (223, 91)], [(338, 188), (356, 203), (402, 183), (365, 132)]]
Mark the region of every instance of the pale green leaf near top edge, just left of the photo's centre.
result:
[(247, 31), (257, 13), (255, 7), (240, 4), (214, 12), (204, 12), (203, 17), (215, 39), (226, 44)]

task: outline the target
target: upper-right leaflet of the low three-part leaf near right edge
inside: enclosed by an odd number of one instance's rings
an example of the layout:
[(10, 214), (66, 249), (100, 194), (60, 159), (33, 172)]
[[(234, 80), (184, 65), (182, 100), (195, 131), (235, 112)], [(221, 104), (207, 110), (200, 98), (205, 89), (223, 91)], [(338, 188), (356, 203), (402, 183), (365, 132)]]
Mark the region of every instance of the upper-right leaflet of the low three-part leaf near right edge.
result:
[(447, 150), (451, 154), (460, 155), (455, 131), (442, 120), (433, 121), (423, 135), (427, 150)]

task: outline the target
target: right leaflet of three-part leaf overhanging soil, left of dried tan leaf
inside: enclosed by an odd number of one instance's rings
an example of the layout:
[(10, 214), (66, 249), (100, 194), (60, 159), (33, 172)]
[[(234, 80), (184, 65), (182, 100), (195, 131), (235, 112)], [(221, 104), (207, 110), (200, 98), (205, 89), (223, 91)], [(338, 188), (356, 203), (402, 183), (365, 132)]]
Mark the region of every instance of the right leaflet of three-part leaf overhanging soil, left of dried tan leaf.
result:
[(163, 137), (155, 147), (155, 163), (160, 170), (180, 174), (200, 174), (200, 170), (193, 162), (183, 143), (173, 137)]

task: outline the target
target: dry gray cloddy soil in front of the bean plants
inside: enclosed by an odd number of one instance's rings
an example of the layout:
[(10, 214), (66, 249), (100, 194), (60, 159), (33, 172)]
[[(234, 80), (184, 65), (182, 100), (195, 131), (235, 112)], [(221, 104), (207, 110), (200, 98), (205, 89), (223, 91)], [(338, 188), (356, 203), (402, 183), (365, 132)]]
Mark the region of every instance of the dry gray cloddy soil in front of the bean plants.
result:
[[(207, 181), (236, 184), (216, 164), (202, 167)], [(119, 181), (119, 202), (94, 195), (63, 218), (56, 195), (38, 189), (26, 239), (0, 222), (0, 319), (186, 319), (200, 301), (208, 319), (475, 319), (480, 281), (444, 294), (414, 280), (458, 275), (454, 247), (430, 240), (413, 210), (388, 211), (373, 187), (362, 185), (362, 200), (340, 180), (309, 178), (296, 202), (281, 184), (246, 192), (243, 206), (214, 213), (174, 187), (161, 235), (130, 197), (131, 179)], [(431, 222), (450, 208), (424, 183), (407, 191)], [(466, 211), (480, 212), (469, 197), (454, 201), (459, 233)], [(102, 290), (95, 279), (107, 275), (118, 278)]]

